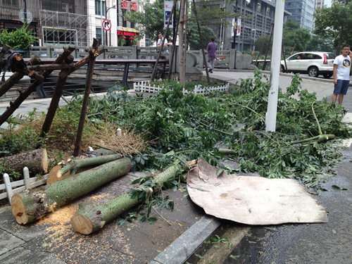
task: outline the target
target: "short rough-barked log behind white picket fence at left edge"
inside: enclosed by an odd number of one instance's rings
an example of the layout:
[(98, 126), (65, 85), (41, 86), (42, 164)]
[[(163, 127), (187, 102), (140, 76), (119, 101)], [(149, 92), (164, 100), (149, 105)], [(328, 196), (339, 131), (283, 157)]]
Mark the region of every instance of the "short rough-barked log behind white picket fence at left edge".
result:
[(13, 156), (0, 158), (0, 163), (5, 168), (12, 168), (16, 172), (23, 173), (23, 168), (27, 167), (30, 172), (48, 172), (48, 154), (46, 149), (34, 149), (18, 153)]

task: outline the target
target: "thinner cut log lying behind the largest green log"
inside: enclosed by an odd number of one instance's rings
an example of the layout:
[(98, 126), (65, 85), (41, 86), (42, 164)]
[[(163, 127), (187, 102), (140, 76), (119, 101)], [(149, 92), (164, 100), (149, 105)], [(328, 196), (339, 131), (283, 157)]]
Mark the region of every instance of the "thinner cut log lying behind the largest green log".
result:
[(95, 167), (104, 163), (116, 161), (119, 158), (122, 158), (122, 156), (119, 154), (114, 154), (108, 156), (71, 160), (66, 165), (56, 165), (50, 170), (48, 178), (46, 179), (46, 185), (57, 182), (59, 180), (63, 180), (67, 177), (70, 177), (70, 175), (75, 175), (77, 169), (79, 168), (86, 168), (89, 166)]

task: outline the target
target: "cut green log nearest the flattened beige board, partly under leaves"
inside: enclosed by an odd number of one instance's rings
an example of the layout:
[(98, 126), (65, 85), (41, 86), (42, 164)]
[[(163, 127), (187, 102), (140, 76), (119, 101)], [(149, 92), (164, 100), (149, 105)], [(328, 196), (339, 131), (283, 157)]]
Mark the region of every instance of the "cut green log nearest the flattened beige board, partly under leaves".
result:
[[(188, 169), (189, 166), (186, 166), (186, 168)], [(164, 172), (156, 176), (153, 182), (162, 185), (163, 182), (169, 180), (171, 177), (175, 177), (177, 171), (181, 169), (182, 166), (180, 163), (174, 163)], [(139, 188), (144, 189), (147, 194), (151, 192), (149, 187), (141, 185)], [(94, 206), (91, 201), (86, 201), (80, 203), (80, 208), (77, 210), (77, 213), (73, 215), (70, 222), (73, 230), (76, 232), (91, 234), (101, 230), (106, 223), (111, 222), (111, 220), (117, 218), (118, 215), (125, 213), (127, 210), (130, 210), (130, 208), (137, 206), (138, 203), (138, 198), (132, 199), (129, 193), (122, 194), (100, 206)]]

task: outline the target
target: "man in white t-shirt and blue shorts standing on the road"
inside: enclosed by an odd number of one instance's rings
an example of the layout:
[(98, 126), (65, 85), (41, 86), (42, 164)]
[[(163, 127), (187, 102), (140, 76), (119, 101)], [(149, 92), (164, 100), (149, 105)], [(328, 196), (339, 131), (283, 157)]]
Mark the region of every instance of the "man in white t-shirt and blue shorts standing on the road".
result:
[(332, 103), (336, 103), (339, 98), (339, 104), (344, 101), (344, 95), (347, 94), (350, 85), (351, 71), (351, 46), (345, 44), (342, 47), (342, 54), (334, 60), (334, 93), (332, 94)]

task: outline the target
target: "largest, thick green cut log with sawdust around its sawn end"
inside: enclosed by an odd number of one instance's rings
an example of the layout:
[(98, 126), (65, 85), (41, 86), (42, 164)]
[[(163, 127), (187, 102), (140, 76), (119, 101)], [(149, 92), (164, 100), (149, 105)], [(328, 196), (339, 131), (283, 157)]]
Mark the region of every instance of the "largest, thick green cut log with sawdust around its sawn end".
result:
[(130, 158), (121, 158), (65, 180), (35, 190), (22, 191), (12, 197), (12, 214), (18, 224), (34, 222), (97, 187), (125, 175), (130, 169)]

